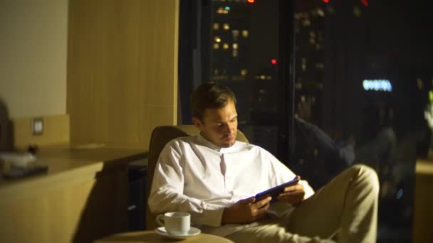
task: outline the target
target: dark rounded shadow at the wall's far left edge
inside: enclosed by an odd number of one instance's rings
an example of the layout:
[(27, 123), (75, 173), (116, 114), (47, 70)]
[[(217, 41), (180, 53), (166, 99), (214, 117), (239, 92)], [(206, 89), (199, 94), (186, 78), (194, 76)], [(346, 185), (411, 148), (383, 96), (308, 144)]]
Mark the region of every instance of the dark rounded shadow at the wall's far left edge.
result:
[(0, 97), (0, 151), (11, 151), (14, 145), (14, 132), (6, 103)]

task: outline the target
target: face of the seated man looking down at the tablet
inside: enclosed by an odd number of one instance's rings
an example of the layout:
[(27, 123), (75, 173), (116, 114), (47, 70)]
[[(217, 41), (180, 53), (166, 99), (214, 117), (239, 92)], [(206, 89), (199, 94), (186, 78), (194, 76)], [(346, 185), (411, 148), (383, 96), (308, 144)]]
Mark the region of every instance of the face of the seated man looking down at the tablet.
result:
[(225, 107), (219, 109), (206, 109), (203, 122), (197, 117), (193, 118), (194, 125), (200, 134), (216, 146), (228, 148), (234, 144), (238, 128), (238, 114), (234, 102), (229, 100)]

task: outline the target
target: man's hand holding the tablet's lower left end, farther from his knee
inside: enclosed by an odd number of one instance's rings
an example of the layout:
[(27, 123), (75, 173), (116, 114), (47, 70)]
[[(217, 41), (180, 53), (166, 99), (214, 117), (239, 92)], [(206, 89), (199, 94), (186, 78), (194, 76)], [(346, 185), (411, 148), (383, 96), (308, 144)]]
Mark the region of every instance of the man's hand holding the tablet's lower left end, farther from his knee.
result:
[(271, 197), (256, 202), (256, 198), (246, 198), (226, 207), (222, 213), (222, 224), (246, 224), (264, 217), (269, 208)]

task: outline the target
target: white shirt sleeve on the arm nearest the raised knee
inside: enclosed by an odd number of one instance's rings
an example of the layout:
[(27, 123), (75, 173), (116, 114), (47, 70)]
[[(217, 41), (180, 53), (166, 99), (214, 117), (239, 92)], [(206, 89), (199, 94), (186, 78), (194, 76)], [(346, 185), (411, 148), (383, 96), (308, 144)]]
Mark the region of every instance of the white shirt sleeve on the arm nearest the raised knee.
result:
[[(282, 183), (286, 183), (288, 180), (292, 180), (295, 178), (296, 174), (293, 173), (287, 166), (285, 166), (281, 161), (278, 161), (275, 156), (273, 156), (271, 153), (266, 151), (269, 161), (271, 161), (271, 177), (273, 177), (273, 180), (276, 181), (277, 185), (280, 185)], [(314, 194), (313, 188), (311, 188), (310, 184), (308, 184), (307, 180), (300, 180), (299, 184), (303, 185), (303, 188), (306, 192), (306, 194), (303, 197), (303, 200), (306, 200), (307, 198), (310, 198)]]

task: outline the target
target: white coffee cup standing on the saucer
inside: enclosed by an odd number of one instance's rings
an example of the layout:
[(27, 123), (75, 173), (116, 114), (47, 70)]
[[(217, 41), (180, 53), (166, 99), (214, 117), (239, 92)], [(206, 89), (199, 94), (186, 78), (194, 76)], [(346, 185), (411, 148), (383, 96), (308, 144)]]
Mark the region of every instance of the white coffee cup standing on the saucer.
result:
[(188, 212), (166, 212), (157, 216), (157, 223), (164, 226), (169, 234), (188, 234), (191, 215)]

